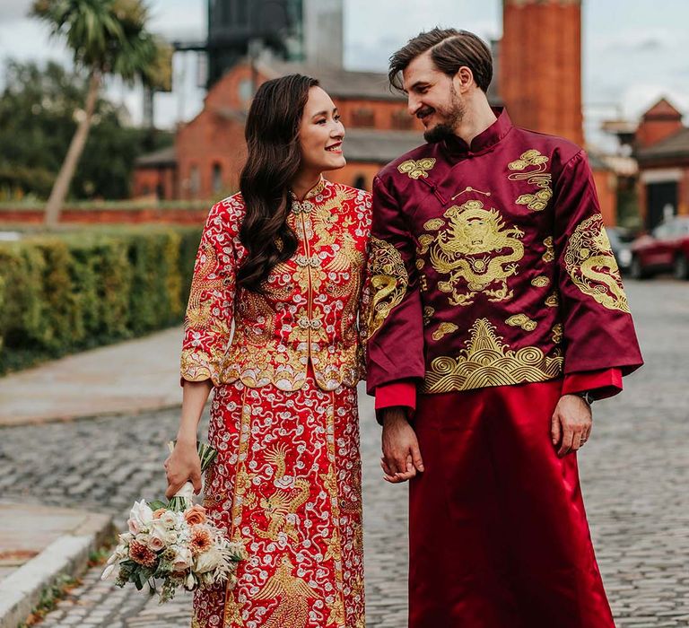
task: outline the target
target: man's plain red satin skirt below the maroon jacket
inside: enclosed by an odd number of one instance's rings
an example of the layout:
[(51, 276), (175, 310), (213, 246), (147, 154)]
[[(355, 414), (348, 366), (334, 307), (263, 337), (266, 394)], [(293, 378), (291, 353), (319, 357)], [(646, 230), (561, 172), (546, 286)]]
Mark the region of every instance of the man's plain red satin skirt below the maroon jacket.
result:
[(410, 628), (615, 626), (576, 454), (550, 421), (562, 381), (424, 395), (410, 485)]

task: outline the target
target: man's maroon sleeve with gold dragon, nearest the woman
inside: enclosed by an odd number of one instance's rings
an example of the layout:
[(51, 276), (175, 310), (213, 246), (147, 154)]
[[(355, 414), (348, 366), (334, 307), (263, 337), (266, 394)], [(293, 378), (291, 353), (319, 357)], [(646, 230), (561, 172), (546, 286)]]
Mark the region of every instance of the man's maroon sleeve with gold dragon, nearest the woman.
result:
[(414, 257), (414, 239), (397, 200), (377, 177), (367, 274), (366, 388), (371, 395), (385, 384), (423, 380), (423, 315)]

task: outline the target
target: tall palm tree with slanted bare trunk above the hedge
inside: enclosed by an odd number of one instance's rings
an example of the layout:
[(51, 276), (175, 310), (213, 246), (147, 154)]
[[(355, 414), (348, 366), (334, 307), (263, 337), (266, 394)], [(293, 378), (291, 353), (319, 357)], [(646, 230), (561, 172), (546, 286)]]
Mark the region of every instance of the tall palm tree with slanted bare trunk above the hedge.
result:
[(83, 153), (103, 77), (118, 75), (126, 83), (141, 80), (152, 88), (169, 88), (171, 48), (146, 30), (144, 0), (35, 0), (32, 15), (47, 22), (54, 36), (64, 37), (74, 65), (89, 78), (83, 111), (46, 205), (45, 222), (54, 227)]

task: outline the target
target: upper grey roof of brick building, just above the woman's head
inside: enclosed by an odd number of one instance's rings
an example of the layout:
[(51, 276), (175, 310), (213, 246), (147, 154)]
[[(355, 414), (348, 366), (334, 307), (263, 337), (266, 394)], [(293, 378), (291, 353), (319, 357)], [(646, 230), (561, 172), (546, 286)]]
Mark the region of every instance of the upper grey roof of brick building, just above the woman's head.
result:
[(272, 78), (285, 74), (306, 74), (317, 78), (323, 89), (335, 98), (362, 100), (393, 100), (406, 102), (406, 95), (390, 90), (388, 74), (351, 72), (341, 68), (318, 67), (271, 59), (257, 64), (261, 74)]

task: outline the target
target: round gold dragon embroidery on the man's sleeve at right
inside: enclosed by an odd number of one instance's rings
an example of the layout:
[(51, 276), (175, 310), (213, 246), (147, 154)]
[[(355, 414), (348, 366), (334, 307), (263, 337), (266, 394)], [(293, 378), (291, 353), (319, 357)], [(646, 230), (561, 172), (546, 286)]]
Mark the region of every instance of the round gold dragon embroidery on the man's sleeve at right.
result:
[(564, 252), (564, 267), (581, 292), (608, 310), (629, 313), (620, 271), (600, 214), (577, 225)]

